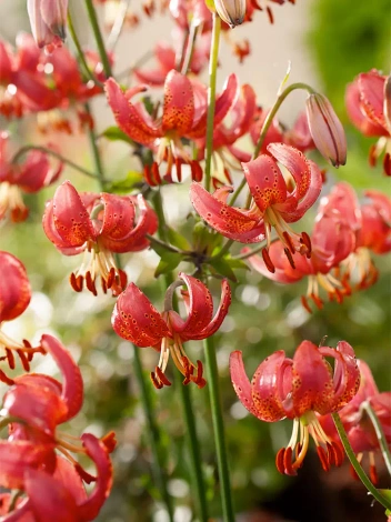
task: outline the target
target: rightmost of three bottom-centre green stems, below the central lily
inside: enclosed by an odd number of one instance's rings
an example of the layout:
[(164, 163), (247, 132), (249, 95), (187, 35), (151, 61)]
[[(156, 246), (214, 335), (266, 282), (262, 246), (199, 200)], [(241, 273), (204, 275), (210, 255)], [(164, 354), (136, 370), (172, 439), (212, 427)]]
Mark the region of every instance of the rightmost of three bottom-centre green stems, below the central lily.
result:
[(221, 502), (223, 520), (234, 522), (234, 511), (232, 504), (230, 473), (228, 466), (228, 455), (225, 446), (224, 423), (222, 418), (222, 408), (219, 390), (219, 372), (215, 357), (213, 338), (203, 341), (205, 351), (205, 365), (208, 377), (208, 390), (212, 410), (212, 421), (214, 431), (214, 441), (218, 458), (219, 479), (221, 484)]

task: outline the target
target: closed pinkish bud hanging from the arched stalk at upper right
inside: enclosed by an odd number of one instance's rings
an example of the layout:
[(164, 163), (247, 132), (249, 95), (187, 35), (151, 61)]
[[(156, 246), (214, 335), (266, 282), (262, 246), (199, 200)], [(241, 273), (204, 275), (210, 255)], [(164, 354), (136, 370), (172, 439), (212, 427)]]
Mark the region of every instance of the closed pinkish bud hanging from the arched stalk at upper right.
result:
[(315, 92), (308, 97), (307, 118), (319, 152), (332, 165), (344, 165), (347, 162), (347, 137), (332, 104), (323, 94)]

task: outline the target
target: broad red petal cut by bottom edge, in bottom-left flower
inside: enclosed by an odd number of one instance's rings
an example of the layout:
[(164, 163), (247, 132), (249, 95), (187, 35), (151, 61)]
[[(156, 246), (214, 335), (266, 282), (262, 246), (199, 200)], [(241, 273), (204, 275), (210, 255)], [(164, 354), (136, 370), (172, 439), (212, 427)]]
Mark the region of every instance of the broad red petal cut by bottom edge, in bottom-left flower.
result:
[(42, 470), (26, 471), (26, 492), (34, 520), (40, 522), (74, 522), (78, 506), (66, 484)]

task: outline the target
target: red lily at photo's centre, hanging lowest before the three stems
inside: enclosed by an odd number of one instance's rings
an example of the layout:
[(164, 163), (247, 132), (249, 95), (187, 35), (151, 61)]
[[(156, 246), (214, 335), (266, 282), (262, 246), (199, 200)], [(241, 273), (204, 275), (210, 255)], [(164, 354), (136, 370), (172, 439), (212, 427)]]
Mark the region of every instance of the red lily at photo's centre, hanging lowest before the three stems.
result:
[[(164, 374), (169, 357), (178, 370), (184, 375), (183, 384), (194, 382), (199, 388), (205, 385), (202, 377), (202, 363), (196, 365), (184, 352), (182, 343), (190, 340), (201, 340), (215, 333), (223, 322), (231, 304), (231, 290), (228, 281), (222, 282), (221, 301), (213, 315), (212, 295), (208, 288), (198, 279), (179, 273), (176, 281), (166, 292), (164, 311), (159, 313), (149, 299), (133, 283), (118, 298), (111, 324), (116, 333), (137, 347), (153, 347), (160, 351), (159, 364), (151, 373), (156, 388), (171, 385)], [(186, 320), (172, 310), (172, 295), (176, 288), (186, 284), (188, 290), (182, 292), (188, 304)], [(194, 374), (196, 372), (196, 374)]]

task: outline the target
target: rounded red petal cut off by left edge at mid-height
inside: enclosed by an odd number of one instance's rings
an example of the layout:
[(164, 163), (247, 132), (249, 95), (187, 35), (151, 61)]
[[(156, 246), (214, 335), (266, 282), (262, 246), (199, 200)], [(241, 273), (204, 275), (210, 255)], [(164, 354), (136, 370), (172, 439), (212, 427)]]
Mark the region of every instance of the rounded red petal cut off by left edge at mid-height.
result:
[(9, 252), (0, 251), (0, 323), (18, 318), (31, 300), (24, 265)]

